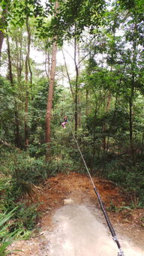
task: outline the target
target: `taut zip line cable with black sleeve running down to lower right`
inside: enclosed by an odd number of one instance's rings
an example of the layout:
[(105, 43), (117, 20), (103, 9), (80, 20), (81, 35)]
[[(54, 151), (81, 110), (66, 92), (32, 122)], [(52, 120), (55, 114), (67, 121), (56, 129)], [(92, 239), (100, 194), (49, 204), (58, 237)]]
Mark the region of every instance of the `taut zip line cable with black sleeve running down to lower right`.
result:
[[(68, 125), (69, 125), (70, 128), (71, 128), (71, 125), (70, 125), (70, 122), (69, 122), (69, 121), (68, 121)], [(108, 225), (108, 227), (109, 227), (109, 229), (110, 229), (110, 233), (112, 234), (113, 240), (116, 242), (116, 244), (117, 244), (117, 246), (118, 246), (118, 249), (119, 249), (118, 256), (124, 256), (124, 252), (121, 250), (121, 245), (120, 245), (120, 243), (118, 242), (118, 239), (117, 239), (115, 230), (113, 229), (113, 225), (111, 224), (110, 218), (109, 218), (109, 216), (107, 215), (107, 211), (106, 211), (106, 209), (105, 209), (105, 207), (104, 207), (104, 203), (103, 203), (103, 201), (101, 200), (101, 196), (100, 196), (100, 194), (98, 193), (97, 188), (96, 188), (96, 186), (95, 186), (95, 184), (94, 184), (94, 181), (93, 181), (93, 179), (92, 179), (91, 173), (89, 172), (89, 168), (87, 167), (86, 161), (85, 161), (85, 159), (84, 159), (84, 157), (83, 157), (83, 153), (82, 153), (81, 150), (80, 150), (79, 143), (77, 142), (76, 136), (75, 136), (74, 131), (73, 131), (72, 128), (71, 128), (71, 132), (72, 132), (73, 137), (74, 137), (74, 140), (75, 140), (75, 142), (76, 142), (76, 144), (77, 144), (77, 148), (79, 149), (80, 155), (81, 155), (81, 157), (82, 157), (82, 159), (83, 159), (83, 163), (84, 163), (84, 165), (85, 165), (85, 167), (86, 167), (86, 170), (87, 170), (87, 172), (88, 172), (88, 174), (89, 174), (89, 178), (91, 179), (91, 182), (92, 182), (92, 185), (93, 185), (95, 194), (96, 194), (97, 197), (98, 197), (98, 202), (99, 202), (100, 205), (101, 205), (101, 210), (102, 210), (102, 212), (104, 213), (104, 217), (105, 217), (105, 219), (106, 219), (106, 221), (107, 221), (107, 225)]]

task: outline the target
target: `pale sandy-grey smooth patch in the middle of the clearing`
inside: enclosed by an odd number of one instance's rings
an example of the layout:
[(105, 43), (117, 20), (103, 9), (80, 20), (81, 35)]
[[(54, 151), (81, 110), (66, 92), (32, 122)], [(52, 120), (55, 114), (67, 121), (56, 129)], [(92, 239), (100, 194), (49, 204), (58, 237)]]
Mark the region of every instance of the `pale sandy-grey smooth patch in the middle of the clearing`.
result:
[[(53, 217), (56, 227), (49, 235), (49, 256), (117, 256), (118, 248), (96, 212), (84, 205), (63, 206)], [(119, 239), (124, 256), (142, 256)]]

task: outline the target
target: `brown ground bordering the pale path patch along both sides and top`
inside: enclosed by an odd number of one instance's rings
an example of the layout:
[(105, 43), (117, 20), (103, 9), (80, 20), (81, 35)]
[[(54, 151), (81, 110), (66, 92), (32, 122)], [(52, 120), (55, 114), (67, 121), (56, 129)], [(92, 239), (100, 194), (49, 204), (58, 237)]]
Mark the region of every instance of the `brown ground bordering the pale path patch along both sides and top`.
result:
[[(127, 239), (128, 242), (132, 242), (144, 254), (144, 227), (141, 221), (144, 218), (144, 209), (124, 207), (129, 202), (113, 182), (97, 177), (94, 177), (94, 182), (101, 194), (105, 207), (108, 209), (108, 215), (115, 233), (117, 233), (118, 237), (122, 237), (123, 240)], [(49, 254), (48, 244), (52, 236), (46, 237), (44, 234), (46, 232), (52, 233), (52, 230), (55, 229), (55, 222), (52, 221), (52, 218), (55, 212), (64, 206), (64, 200), (68, 198), (71, 198), (75, 205), (86, 205), (91, 208), (91, 211), (97, 209), (101, 222), (104, 224), (103, 213), (100, 211), (89, 176), (80, 173), (59, 173), (57, 176), (47, 179), (39, 189), (38, 200), (40, 205), (38, 210), (43, 212), (40, 221), (37, 223), (39, 231), (35, 231), (34, 236), (29, 240), (13, 242), (9, 249), (21, 251), (14, 251), (10, 255), (55, 255)], [(131, 256), (133, 255), (135, 254)]]

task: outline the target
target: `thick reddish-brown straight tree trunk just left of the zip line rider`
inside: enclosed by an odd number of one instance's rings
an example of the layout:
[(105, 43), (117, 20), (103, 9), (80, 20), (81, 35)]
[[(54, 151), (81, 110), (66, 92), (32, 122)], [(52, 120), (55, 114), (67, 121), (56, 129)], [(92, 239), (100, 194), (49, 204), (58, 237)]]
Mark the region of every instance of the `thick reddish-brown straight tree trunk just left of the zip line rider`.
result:
[[(55, 2), (55, 13), (58, 10), (58, 2)], [(49, 91), (47, 97), (47, 106), (46, 106), (46, 143), (47, 143), (47, 150), (46, 150), (46, 161), (50, 158), (50, 142), (51, 142), (51, 118), (52, 118), (52, 100), (53, 100), (53, 88), (55, 83), (55, 67), (56, 67), (56, 53), (57, 53), (57, 43), (56, 38), (55, 41), (52, 43), (52, 64), (50, 70), (50, 79), (49, 79)]]

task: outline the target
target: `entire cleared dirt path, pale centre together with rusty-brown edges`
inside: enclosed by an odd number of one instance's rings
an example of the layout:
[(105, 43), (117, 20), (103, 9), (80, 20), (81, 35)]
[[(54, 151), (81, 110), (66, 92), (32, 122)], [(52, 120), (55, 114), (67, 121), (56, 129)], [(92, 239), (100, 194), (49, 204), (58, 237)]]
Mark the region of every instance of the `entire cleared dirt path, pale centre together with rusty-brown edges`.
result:
[[(115, 209), (108, 214), (126, 256), (144, 255), (144, 229), (140, 226), (143, 210), (123, 209), (118, 212), (123, 202), (127, 202), (121, 191), (113, 182), (97, 178), (94, 182), (107, 208)], [(73, 203), (63, 206), (66, 198), (71, 198)], [(117, 255), (117, 246), (109, 235), (88, 176), (79, 173), (58, 174), (45, 182), (39, 200), (39, 209), (45, 212), (38, 224), (40, 233), (28, 241), (14, 242), (10, 249), (17, 248), (23, 252), (12, 255)]]

